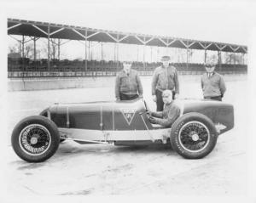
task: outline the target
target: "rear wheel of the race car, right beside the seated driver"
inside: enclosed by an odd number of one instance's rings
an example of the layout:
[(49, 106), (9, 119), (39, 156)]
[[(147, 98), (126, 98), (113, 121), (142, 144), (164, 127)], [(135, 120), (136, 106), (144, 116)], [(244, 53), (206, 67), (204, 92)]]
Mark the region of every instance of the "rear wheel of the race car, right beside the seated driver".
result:
[(201, 159), (214, 149), (218, 133), (211, 119), (200, 113), (188, 113), (172, 125), (172, 149), (187, 159)]

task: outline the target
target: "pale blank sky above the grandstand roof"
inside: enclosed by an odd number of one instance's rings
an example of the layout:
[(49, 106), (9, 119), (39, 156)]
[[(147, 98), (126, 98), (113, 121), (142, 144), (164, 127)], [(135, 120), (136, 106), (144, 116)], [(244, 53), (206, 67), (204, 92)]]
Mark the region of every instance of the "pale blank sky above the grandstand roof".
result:
[(247, 45), (255, 3), (165, 0), (3, 0), (7, 18)]

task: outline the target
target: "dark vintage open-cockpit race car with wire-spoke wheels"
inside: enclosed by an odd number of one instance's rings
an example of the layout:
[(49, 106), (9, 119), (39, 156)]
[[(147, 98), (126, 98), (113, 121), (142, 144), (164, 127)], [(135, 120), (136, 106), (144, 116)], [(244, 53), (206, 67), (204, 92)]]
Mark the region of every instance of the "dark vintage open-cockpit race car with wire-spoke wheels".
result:
[(213, 100), (177, 99), (181, 113), (172, 127), (148, 121), (143, 99), (121, 102), (54, 104), (14, 128), (12, 147), (21, 159), (40, 162), (55, 154), (61, 141), (79, 144), (170, 144), (179, 155), (208, 155), (218, 135), (234, 127), (233, 105)]

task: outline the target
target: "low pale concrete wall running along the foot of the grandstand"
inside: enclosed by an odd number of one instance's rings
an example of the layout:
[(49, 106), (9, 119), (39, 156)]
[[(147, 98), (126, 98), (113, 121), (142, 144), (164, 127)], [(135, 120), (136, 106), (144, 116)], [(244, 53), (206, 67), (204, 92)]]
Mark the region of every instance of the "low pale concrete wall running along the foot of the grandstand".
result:
[[(152, 76), (141, 76), (147, 80)], [(201, 75), (180, 75), (180, 81), (200, 81)], [(247, 74), (227, 74), (225, 81), (236, 81), (246, 79)], [(115, 76), (96, 77), (38, 77), (38, 78), (9, 78), (9, 91), (29, 91), (63, 88), (86, 88), (86, 87), (113, 87)]]

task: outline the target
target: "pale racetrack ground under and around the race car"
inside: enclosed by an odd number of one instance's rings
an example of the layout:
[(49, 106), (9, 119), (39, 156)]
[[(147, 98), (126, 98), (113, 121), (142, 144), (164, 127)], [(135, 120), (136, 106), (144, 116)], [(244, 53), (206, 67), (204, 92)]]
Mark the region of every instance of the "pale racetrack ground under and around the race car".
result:
[[(234, 79), (235, 78), (235, 79)], [(8, 142), (9, 195), (247, 195), (247, 76), (224, 77), (224, 102), (235, 106), (235, 128), (210, 155), (185, 160), (168, 146), (117, 147), (65, 141), (48, 161), (21, 161)], [(151, 77), (142, 77), (154, 110)], [(201, 99), (198, 77), (180, 77), (181, 98)], [(113, 100), (113, 87), (8, 93), (8, 140), (15, 124), (55, 102)]]

